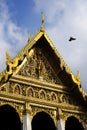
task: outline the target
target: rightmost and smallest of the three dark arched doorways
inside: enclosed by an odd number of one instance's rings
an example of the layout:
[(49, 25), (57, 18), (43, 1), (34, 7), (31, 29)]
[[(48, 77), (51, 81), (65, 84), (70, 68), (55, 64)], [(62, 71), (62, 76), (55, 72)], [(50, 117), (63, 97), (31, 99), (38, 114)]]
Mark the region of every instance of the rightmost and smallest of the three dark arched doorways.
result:
[(66, 121), (65, 130), (84, 130), (84, 128), (77, 118), (71, 116)]

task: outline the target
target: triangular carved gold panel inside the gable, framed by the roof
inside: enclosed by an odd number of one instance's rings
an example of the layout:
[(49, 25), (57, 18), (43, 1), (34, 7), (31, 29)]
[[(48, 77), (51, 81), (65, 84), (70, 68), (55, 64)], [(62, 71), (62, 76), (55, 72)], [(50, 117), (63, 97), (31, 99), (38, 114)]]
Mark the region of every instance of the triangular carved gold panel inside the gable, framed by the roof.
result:
[(28, 53), (27, 61), (18, 74), (50, 83), (62, 84), (48, 61), (40, 48), (33, 48)]

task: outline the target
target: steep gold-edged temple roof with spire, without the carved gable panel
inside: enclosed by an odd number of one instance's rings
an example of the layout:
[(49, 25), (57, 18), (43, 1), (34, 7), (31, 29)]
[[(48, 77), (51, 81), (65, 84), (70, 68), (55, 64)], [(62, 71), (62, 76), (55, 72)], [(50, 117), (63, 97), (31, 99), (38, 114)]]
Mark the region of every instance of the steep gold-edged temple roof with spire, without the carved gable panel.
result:
[(74, 87), (77, 87), (79, 92), (84, 95), (84, 91), (81, 88), (80, 73), (75, 76), (55, 48), (53, 42), (50, 40), (44, 29), (44, 18), (42, 19), (40, 30), (31, 39), (28, 37), (28, 42), (25, 47), (19, 51), (19, 53), (13, 59), (11, 59), (8, 52), (6, 52), (7, 67), (0, 74), (0, 86), (7, 82), (12, 75), (19, 71), (25, 60), (25, 57), (27, 57), (30, 50), (35, 46), (38, 46), (41, 49), (63, 85), (70, 87), (71, 90)]

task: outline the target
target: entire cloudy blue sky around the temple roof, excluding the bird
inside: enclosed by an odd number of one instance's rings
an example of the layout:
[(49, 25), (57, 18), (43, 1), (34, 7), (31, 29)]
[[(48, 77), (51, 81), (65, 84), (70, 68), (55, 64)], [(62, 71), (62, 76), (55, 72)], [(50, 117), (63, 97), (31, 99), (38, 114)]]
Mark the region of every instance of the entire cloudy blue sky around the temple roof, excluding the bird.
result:
[[(13, 58), (33, 37), (45, 16), (45, 31), (87, 92), (87, 0), (0, 0), (0, 72), (6, 51)], [(69, 42), (69, 37), (76, 40)]]

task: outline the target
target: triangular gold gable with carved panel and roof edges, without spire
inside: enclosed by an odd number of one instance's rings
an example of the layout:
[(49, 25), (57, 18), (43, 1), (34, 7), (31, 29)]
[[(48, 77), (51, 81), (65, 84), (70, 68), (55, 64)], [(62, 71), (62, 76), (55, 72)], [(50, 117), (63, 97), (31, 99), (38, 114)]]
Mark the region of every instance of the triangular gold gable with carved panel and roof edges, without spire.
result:
[(6, 58), (7, 68), (1, 75), (2, 83), (11, 75), (20, 74), (68, 87), (80, 84), (45, 31), (38, 32), (28, 40), (14, 59), (9, 58), (9, 55)]

